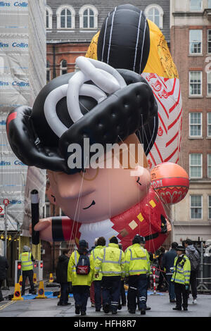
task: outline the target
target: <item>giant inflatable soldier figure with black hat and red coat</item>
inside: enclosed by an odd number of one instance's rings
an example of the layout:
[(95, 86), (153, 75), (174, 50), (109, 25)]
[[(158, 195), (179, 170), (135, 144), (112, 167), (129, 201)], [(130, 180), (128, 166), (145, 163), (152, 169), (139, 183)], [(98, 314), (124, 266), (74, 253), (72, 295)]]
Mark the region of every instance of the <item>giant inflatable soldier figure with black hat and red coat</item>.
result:
[[(166, 137), (158, 139), (162, 137), (160, 101), (153, 87), (161, 81), (162, 97), (171, 103), (174, 92), (167, 89), (168, 99), (163, 87), (173, 84), (177, 90), (178, 79), (166, 76), (170, 70), (163, 69), (165, 64), (169, 68), (166, 53), (162, 57), (165, 47), (153, 46), (156, 37), (158, 29), (138, 8), (115, 8), (97, 37), (98, 61), (90, 56), (77, 58), (77, 73), (51, 80), (33, 108), (22, 106), (8, 115), (13, 152), (23, 163), (47, 169), (49, 200), (66, 215), (40, 220), (34, 227), (40, 239), (74, 239), (76, 244), (86, 239), (92, 246), (96, 237), (108, 242), (116, 236), (125, 249), (139, 233), (146, 239), (146, 249), (153, 252), (167, 238), (170, 221), (165, 204), (151, 187), (149, 163), (158, 159), (153, 150), (162, 159), (167, 151), (173, 156), (179, 131), (172, 143), (165, 142)], [(118, 39), (124, 39), (122, 46), (115, 44)], [(94, 43), (90, 47), (94, 50)], [(175, 74), (173, 67), (171, 73)], [(168, 120), (172, 113), (168, 108)], [(167, 139), (170, 135), (171, 127)]]

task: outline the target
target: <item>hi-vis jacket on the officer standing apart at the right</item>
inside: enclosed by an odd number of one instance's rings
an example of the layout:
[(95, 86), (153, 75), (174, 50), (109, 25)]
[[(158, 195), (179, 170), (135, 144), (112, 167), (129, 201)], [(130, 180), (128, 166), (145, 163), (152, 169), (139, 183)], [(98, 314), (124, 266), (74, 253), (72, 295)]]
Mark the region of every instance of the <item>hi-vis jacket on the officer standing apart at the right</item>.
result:
[(189, 285), (191, 275), (191, 263), (188, 256), (184, 255), (181, 261), (177, 264), (179, 256), (174, 258), (174, 273), (172, 282), (177, 282), (181, 285)]

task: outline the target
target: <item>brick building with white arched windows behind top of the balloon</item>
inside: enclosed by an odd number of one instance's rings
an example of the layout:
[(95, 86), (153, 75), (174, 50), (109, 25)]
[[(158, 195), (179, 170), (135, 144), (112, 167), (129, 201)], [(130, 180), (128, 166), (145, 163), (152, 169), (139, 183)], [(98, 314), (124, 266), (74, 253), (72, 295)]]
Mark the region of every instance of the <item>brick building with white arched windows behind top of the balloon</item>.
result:
[(133, 4), (162, 30), (170, 43), (170, 1), (46, 1), (47, 80), (75, 70), (75, 59), (84, 56), (92, 37), (115, 6)]

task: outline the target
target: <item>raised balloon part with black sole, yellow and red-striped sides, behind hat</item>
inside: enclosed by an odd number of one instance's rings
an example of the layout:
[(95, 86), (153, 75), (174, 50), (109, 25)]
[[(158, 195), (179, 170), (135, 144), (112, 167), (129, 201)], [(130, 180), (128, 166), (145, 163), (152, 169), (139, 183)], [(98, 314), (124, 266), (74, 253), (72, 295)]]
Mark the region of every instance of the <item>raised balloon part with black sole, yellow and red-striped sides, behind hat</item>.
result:
[(138, 137), (150, 168), (167, 161), (177, 163), (182, 118), (179, 75), (157, 25), (135, 6), (117, 6), (92, 39), (86, 56), (133, 70), (148, 82), (158, 103), (158, 118), (143, 125)]

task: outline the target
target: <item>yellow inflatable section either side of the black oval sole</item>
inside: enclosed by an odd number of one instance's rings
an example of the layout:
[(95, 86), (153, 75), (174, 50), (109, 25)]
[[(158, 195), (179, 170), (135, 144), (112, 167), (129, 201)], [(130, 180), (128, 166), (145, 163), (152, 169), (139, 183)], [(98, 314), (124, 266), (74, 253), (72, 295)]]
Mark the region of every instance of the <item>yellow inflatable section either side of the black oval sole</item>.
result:
[[(143, 73), (156, 73), (160, 77), (179, 78), (177, 68), (170, 54), (164, 35), (151, 20), (148, 20), (150, 29), (151, 48), (148, 61)], [(96, 33), (91, 40), (86, 57), (97, 60), (97, 44), (100, 32)]]

